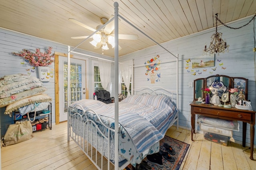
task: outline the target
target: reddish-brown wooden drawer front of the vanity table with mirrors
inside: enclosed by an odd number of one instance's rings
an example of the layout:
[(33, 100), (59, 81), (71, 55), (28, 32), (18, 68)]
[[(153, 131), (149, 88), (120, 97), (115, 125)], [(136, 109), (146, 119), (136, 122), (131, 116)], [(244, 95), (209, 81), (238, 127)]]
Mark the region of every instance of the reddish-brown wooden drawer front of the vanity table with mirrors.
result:
[(203, 114), (203, 115), (214, 115), (214, 116), (220, 116), (220, 117), (226, 117), (226, 118), (232, 118), (232, 119), (239, 119), (239, 120), (245, 120), (250, 121), (251, 120), (251, 114), (250, 113), (242, 113), (241, 111), (228, 111), (228, 110), (220, 110), (216, 108), (204, 108), (204, 107), (194, 107), (194, 113), (195, 114)]

